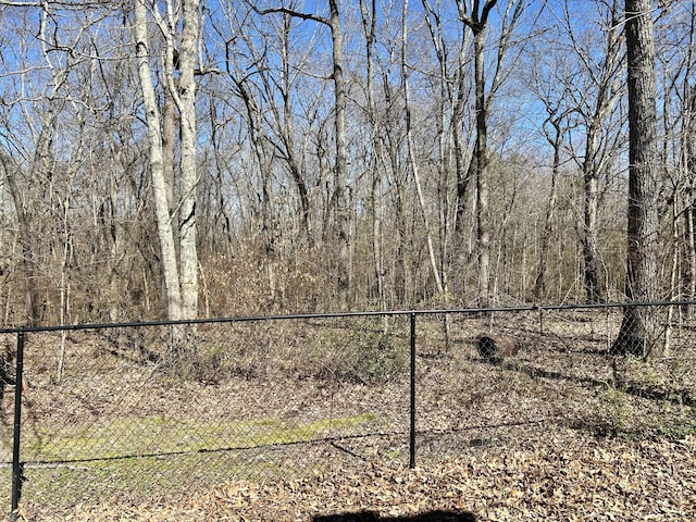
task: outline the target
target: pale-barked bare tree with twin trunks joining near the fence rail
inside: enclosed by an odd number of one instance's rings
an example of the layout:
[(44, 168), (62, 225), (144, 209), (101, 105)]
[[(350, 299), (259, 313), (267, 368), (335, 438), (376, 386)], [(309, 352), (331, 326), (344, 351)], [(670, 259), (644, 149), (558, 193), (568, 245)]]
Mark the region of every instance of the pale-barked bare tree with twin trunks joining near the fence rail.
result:
[[(171, 96), (178, 111), (181, 136), (179, 195), (173, 200), (173, 166), (171, 150), (165, 145), (173, 140), (171, 107), (160, 110), (152, 79), (153, 52), (157, 46), (149, 34), (149, 14), (157, 22), (163, 36), (161, 55), (161, 82), (165, 96)], [(196, 245), (196, 63), (199, 38), (199, 2), (185, 0), (181, 10), (166, 3), (166, 12), (160, 13), (157, 2), (135, 1), (136, 57), (140, 88), (146, 109), (150, 145), (150, 173), (157, 210), (162, 272), (170, 319), (192, 319), (198, 313), (198, 253)], [(177, 41), (178, 48), (177, 48)], [(164, 120), (163, 120), (164, 119)], [(163, 123), (164, 121), (164, 123)], [(164, 129), (164, 130), (163, 130)], [(169, 132), (167, 132), (169, 129)], [(172, 209), (178, 216), (178, 231), (172, 224)], [(175, 234), (177, 232), (177, 234)], [(177, 245), (178, 243), (178, 245)]]

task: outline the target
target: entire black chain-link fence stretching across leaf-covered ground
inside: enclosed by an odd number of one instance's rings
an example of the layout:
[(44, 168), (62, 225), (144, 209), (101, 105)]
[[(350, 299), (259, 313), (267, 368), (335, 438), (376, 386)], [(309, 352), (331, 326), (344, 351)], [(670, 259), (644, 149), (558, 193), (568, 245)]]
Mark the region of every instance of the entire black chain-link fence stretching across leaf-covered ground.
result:
[(649, 358), (612, 355), (614, 306), (8, 331), (0, 495), (40, 514), (446, 460), (560, 428), (691, 433), (696, 309), (646, 312), (660, 333)]

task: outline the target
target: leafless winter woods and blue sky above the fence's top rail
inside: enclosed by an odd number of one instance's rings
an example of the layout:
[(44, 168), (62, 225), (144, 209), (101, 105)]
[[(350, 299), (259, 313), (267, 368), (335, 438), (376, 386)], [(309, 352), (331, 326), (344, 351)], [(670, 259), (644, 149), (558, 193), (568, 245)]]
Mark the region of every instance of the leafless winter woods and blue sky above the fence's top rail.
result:
[(696, 2), (627, 3), (0, 0), (2, 323), (694, 299)]

